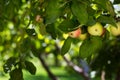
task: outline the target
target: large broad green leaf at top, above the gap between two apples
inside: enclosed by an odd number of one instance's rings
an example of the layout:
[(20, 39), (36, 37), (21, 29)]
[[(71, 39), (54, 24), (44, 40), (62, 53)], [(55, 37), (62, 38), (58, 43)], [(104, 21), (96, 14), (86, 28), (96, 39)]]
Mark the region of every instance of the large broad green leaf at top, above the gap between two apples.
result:
[(83, 2), (73, 1), (71, 4), (73, 15), (77, 17), (81, 24), (86, 24), (88, 21), (87, 4)]

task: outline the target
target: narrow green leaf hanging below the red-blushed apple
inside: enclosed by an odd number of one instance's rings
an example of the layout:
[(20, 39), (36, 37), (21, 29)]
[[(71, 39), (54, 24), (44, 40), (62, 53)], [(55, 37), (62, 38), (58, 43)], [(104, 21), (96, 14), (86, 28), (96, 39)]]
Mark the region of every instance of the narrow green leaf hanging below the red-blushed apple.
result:
[(72, 43), (72, 38), (68, 37), (62, 46), (61, 55), (65, 55), (69, 51), (71, 47), (71, 43)]

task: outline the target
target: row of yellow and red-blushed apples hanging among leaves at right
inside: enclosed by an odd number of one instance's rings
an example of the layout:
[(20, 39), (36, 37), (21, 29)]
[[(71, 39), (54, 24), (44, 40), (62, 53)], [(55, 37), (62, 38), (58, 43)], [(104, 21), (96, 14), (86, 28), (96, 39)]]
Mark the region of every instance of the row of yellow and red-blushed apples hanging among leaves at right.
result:
[[(120, 22), (116, 23), (117, 27), (113, 25), (109, 25), (110, 33), (113, 36), (120, 35)], [(103, 36), (105, 34), (106, 29), (102, 26), (101, 23), (96, 22), (96, 24), (87, 27), (87, 33), (82, 33), (81, 27), (76, 29), (75, 31), (69, 32), (69, 36), (72, 38), (79, 38), (80, 40), (85, 40), (88, 34), (92, 36)]]

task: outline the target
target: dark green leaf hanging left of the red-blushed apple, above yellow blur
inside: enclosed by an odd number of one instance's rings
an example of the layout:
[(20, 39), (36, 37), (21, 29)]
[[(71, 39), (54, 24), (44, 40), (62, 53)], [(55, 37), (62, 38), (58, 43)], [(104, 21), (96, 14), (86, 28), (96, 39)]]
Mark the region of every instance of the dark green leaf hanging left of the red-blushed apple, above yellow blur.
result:
[(56, 28), (55, 28), (54, 24), (47, 25), (46, 31), (51, 34), (53, 39), (56, 39), (57, 34), (56, 34)]

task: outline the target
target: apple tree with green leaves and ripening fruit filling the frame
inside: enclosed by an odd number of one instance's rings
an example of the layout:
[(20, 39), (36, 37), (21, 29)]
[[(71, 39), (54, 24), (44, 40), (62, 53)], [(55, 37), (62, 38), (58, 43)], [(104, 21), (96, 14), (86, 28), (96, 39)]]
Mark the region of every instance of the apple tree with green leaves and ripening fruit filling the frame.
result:
[(35, 75), (29, 61), (35, 56), (57, 80), (45, 63), (53, 54), (56, 64), (62, 56), (85, 80), (93, 79), (93, 71), (95, 79), (120, 80), (119, 5), (119, 0), (0, 0), (0, 66), (10, 80), (24, 80), (23, 69)]

